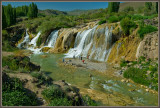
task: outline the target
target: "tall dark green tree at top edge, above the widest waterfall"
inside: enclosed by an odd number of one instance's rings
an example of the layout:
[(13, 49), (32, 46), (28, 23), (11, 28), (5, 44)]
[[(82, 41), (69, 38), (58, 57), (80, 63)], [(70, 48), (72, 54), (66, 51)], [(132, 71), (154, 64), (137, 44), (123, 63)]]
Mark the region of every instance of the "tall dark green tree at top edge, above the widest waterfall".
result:
[(118, 12), (120, 2), (109, 2), (108, 4), (108, 13)]

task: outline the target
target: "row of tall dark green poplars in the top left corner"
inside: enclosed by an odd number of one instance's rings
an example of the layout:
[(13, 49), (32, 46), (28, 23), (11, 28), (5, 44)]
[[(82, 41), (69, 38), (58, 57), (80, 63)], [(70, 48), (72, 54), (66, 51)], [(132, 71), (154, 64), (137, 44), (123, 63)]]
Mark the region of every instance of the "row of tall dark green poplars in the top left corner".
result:
[(16, 18), (21, 16), (27, 16), (28, 18), (36, 18), (38, 14), (38, 8), (35, 3), (29, 6), (12, 7), (11, 4), (2, 6), (2, 28), (6, 28), (16, 23)]

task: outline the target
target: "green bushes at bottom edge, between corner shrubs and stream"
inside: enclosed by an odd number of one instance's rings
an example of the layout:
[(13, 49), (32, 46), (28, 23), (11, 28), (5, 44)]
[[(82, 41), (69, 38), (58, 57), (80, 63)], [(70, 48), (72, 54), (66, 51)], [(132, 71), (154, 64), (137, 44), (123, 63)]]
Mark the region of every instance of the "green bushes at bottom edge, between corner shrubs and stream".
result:
[[(66, 88), (68, 89), (68, 88)], [(66, 90), (65, 90), (66, 91)], [(49, 103), (49, 106), (79, 106), (82, 105), (81, 99), (70, 99), (66, 92), (63, 91), (58, 85), (49, 86), (42, 91), (43, 97)], [(82, 97), (84, 105), (97, 106), (97, 103), (93, 101), (89, 96)]]

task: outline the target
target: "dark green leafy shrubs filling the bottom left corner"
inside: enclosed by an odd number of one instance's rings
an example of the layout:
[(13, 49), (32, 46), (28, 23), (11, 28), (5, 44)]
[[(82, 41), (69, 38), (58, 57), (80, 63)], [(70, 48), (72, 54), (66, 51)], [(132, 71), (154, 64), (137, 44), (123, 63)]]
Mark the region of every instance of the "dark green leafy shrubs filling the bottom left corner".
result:
[(2, 76), (2, 105), (3, 106), (35, 106), (37, 97), (23, 87), (17, 78), (10, 78), (3, 73)]

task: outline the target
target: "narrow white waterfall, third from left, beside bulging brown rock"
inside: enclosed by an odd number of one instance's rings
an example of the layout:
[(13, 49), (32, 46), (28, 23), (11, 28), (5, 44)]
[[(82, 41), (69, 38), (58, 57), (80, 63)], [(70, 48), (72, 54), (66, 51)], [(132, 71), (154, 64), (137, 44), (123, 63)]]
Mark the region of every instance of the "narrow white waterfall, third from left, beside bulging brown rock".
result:
[(57, 37), (58, 37), (58, 30), (54, 30), (53, 32), (51, 32), (45, 43), (46, 44), (45, 47), (54, 47)]

